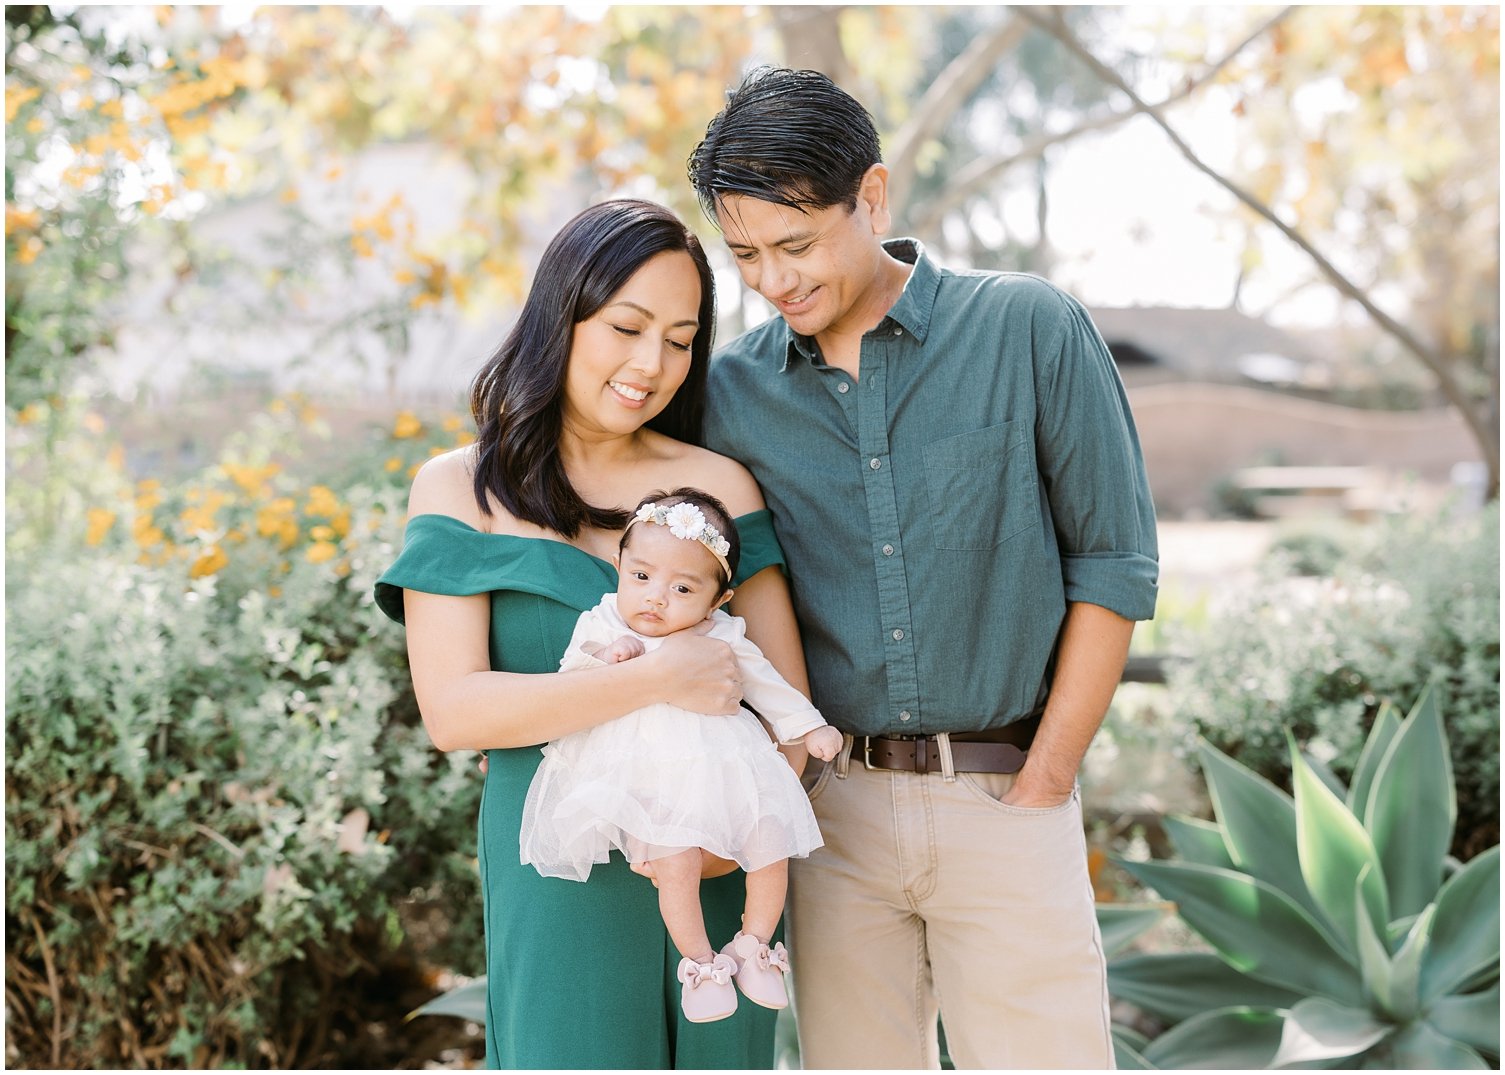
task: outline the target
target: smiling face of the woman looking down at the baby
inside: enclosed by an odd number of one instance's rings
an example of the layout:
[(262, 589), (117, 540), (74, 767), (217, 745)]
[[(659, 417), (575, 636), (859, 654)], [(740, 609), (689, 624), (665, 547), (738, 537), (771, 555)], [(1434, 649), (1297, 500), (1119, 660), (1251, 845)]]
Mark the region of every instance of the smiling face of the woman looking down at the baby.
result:
[(637, 432), (689, 373), (700, 331), (700, 276), (689, 254), (655, 254), (575, 325), (564, 373), (564, 429), (587, 440)]

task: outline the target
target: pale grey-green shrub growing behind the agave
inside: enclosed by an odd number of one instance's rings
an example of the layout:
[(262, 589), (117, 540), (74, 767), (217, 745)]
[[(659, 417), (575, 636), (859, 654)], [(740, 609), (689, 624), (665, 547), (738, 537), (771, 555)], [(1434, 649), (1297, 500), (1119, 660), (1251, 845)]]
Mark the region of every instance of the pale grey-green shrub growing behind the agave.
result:
[[(1309, 566), (1309, 565), (1302, 565)], [(1457, 780), (1454, 854), (1499, 842), (1499, 506), (1397, 518), (1321, 578), (1276, 557), (1257, 586), (1172, 638), (1175, 714), (1218, 750), (1290, 787), (1285, 726), (1347, 780), (1385, 700), (1436, 673)]]

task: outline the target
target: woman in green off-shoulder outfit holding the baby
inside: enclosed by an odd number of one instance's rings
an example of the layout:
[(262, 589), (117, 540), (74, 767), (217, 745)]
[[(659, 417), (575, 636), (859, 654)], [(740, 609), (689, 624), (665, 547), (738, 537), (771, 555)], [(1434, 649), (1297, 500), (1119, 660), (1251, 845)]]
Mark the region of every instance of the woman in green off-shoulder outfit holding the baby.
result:
[[(476, 444), (418, 471), (403, 553), (376, 584), (381, 607), (406, 622), (435, 745), (488, 751), (491, 1066), (772, 1066), (771, 1012), (749, 1004), (715, 1024), (680, 1018), (677, 958), (653, 887), (625, 861), (578, 884), (542, 878), (518, 854), (539, 744), (655, 702), (737, 711), (730, 649), (691, 632), (635, 661), (555, 671), (579, 613), (614, 589), (628, 509), (650, 489), (695, 485), (737, 516), (733, 611), (808, 694), (762, 494), (739, 464), (695, 447), (713, 316), (704, 251), (671, 212), (617, 200), (575, 217), (476, 378)], [(727, 936), (743, 899), (742, 875), (730, 870), (709, 861), (716, 879), (703, 887), (707, 923)]]

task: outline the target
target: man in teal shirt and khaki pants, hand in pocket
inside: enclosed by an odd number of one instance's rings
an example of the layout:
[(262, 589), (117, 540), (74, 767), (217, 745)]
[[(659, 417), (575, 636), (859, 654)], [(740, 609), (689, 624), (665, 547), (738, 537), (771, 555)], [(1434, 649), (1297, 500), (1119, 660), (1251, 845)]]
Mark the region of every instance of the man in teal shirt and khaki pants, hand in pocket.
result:
[(1154, 611), (1123, 385), (1043, 280), (883, 241), (873, 120), (810, 71), (737, 87), (689, 161), (780, 318), (712, 363), (709, 446), (763, 486), (846, 748), (793, 864), (807, 1067), (1111, 1067), (1076, 771)]

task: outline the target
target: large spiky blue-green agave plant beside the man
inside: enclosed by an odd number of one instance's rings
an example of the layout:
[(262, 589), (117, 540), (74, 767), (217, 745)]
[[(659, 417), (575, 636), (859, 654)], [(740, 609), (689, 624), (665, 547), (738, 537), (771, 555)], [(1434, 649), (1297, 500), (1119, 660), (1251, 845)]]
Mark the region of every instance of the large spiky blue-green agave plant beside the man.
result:
[[(1380, 709), (1347, 787), (1290, 751), (1294, 796), (1202, 744), (1216, 821), (1168, 818), (1178, 858), (1123, 863), (1213, 950), (1109, 964), (1109, 992), (1169, 1024), (1115, 1028), (1120, 1066), (1497, 1066), (1499, 846), (1448, 857), (1433, 690)], [(1114, 944), (1153, 921), (1123, 912)]]

